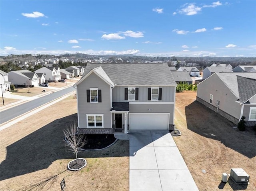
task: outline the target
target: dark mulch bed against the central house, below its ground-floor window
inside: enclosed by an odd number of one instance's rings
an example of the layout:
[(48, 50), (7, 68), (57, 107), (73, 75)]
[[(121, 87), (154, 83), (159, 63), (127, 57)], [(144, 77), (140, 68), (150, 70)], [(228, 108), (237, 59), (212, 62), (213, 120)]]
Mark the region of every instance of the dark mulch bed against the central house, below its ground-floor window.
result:
[(87, 150), (103, 149), (114, 143), (114, 134), (87, 134), (88, 143), (82, 148)]

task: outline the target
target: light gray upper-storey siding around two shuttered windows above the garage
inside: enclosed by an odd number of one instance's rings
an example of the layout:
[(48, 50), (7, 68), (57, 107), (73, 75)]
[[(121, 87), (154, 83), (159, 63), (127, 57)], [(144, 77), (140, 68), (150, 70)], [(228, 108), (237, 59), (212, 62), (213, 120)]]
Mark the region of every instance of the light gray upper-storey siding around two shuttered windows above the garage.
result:
[[(126, 86), (116, 86), (113, 89), (113, 102), (153, 102), (148, 100), (148, 88), (151, 86), (136, 86), (139, 89), (139, 100), (124, 100), (124, 89)], [(174, 102), (175, 87), (174, 86), (159, 86), (162, 88), (162, 100), (158, 102)]]

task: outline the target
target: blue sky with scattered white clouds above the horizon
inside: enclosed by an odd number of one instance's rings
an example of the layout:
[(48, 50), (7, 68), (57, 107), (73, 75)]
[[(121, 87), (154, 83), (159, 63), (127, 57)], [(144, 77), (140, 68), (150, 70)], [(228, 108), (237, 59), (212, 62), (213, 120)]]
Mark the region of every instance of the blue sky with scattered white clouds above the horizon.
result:
[(256, 57), (256, 0), (0, 0), (0, 55)]

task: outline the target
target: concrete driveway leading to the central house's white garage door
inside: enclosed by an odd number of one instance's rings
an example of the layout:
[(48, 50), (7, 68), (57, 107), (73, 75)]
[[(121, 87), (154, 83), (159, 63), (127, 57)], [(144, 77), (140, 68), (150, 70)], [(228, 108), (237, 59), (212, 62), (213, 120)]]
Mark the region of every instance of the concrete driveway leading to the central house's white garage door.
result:
[(133, 130), (130, 140), (130, 191), (198, 191), (167, 130)]

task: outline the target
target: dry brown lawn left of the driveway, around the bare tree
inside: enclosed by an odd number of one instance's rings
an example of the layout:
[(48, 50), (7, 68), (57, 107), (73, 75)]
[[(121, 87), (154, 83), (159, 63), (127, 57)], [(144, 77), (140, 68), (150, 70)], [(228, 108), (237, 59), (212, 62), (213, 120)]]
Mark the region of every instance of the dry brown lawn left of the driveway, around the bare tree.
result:
[[(118, 140), (102, 151), (82, 151), (78, 157), (87, 160), (86, 167), (67, 170), (74, 156), (64, 147), (62, 130), (76, 118), (76, 99), (70, 96), (0, 131), (0, 190), (61, 190), (65, 178), (67, 191), (128, 191), (128, 141)], [(54, 175), (56, 179), (47, 181)]]

